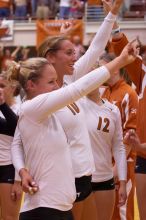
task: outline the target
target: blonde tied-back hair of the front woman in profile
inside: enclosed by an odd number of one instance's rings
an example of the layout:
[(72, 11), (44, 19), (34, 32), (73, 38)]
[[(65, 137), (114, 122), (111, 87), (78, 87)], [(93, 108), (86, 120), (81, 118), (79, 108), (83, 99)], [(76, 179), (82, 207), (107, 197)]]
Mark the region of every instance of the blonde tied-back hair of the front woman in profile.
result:
[(18, 81), (25, 90), (27, 81), (37, 81), (41, 77), (42, 70), (46, 65), (51, 64), (47, 59), (40, 57), (30, 58), (20, 63), (12, 61), (7, 70), (8, 80)]

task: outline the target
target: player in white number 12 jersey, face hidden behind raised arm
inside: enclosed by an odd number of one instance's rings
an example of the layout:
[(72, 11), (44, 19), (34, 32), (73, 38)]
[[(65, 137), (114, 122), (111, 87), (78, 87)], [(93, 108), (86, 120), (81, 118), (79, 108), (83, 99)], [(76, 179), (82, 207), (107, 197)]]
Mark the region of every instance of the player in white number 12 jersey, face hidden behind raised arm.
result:
[[(94, 219), (110, 220), (115, 205), (113, 156), (120, 182), (118, 207), (126, 202), (127, 164), (120, 111), (115, 105), (101, 99), (97, 89), (88, 94), (82, 104), (96, 167), (92, 175), (93, 198), (96, 204)], [(86, 203), (85, 209), (88, 209), (87, 205), (90, 204)], [(91, 208), (88, 215), (92, 216), (93, 213), (94, 209)]]

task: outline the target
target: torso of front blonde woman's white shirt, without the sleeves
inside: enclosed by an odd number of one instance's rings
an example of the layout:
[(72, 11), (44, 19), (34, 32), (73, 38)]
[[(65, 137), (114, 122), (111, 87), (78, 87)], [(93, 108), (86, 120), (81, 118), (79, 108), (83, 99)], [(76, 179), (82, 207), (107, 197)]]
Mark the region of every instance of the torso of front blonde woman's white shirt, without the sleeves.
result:
[(74, 175), (70, 149), (59, 120), (51, 115), (43, 123), (37, 123), (24, 112), (18, 128), (26, 167), (39, 186), (35, 195), (25, 194), (22, 211), (37, 207), (71, 209), (75, 200)]

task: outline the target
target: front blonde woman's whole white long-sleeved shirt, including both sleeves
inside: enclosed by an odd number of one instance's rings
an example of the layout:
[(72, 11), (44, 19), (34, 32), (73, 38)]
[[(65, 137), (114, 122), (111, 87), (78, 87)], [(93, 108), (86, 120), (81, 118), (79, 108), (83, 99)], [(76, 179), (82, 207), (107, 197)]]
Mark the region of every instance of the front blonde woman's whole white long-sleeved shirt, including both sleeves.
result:
[(37, 207), (62, 211), (72, 208), (75, 185), (70, 148), (54, 112), (91, 92), (109, 76), (103, 66), (69, 86), (41, 94), (22, 104), (18, 128), (23, 149), (17, 144), (16, 132), (11, 147), (13, 164), (18, 171), (26, 164), (39, 186), (39, 191), (33, 196), (26, 194), (23, 211)]

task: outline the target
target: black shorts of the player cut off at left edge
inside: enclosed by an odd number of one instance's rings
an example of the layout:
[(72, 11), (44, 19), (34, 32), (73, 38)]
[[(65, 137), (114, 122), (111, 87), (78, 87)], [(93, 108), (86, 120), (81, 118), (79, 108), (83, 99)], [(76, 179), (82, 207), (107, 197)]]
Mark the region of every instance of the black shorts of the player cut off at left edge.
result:
[(0, 183), (13, 184), (15, 180), (15, 169), (12, 164), (0, 166)]

